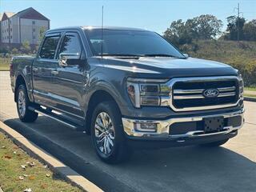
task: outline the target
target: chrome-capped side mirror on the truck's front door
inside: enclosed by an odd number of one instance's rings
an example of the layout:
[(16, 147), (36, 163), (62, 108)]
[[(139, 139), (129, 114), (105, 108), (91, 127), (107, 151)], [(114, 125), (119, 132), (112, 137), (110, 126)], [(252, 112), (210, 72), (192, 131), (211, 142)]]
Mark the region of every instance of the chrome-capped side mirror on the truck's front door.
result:
[(60, 66), (74, 66), (78, 65), (78, 62), (80, 60), (80, 55), (78, 53), (76, 54), (69, 54), (69, 53), (62, 53), (59, 54), (59, 65)]

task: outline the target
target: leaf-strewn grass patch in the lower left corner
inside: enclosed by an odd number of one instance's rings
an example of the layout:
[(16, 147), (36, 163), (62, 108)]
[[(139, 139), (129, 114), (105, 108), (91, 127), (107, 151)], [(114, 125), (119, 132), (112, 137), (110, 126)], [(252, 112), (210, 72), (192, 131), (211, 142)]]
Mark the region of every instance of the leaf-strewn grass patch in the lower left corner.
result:
[[(0, 133), (0, 186), (3, 191), (82, 191), (65, 182)], [(30, 163), (30, 165), (29, 165)], [(33, 166), (34, 164), (34, 166)], [(26, 165), (26, 169), (22, 169)]]

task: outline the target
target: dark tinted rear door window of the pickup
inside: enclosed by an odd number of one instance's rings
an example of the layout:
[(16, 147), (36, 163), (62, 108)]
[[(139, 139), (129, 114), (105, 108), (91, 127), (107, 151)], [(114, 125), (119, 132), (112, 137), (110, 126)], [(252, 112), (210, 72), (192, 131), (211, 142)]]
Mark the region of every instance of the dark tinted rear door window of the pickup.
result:
[(42, 44), (41, 58), (54, 58), (58, 46), (59, 36), (47, 37)]

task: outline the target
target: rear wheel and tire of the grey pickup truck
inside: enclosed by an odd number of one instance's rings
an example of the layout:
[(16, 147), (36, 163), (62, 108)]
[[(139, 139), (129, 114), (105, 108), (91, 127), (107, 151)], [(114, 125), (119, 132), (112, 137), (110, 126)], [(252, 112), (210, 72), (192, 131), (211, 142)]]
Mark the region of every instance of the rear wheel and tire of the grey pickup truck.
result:
[(16, 94), (16, 105), (19, 119), (22, 122), (34, 122), (38, 118), (38, 113), (28, 109), (28, 107), (32, 106), (33, 103), (30, 102), (30, 99), (27, 96), (26, 86), (18, 86)]

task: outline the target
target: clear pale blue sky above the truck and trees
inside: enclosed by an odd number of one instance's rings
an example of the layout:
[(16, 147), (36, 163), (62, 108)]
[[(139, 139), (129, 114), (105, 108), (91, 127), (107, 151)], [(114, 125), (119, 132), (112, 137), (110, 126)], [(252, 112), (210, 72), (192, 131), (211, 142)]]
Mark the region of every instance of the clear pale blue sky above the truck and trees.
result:
[(170, 23), (201, 14), (214, 14), (224, 23), (237, 14), (247, 20), (256, 18), (256, 0), (0, 0), (0, 12), (18, 12), (32, 6), (50, 18), (50, 28), (62, 26), (100, 26), (104, 6), (104, 26), (128, 26), (154, 30), (162, 34)]

